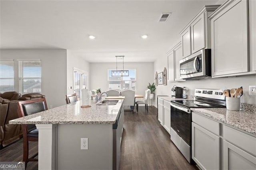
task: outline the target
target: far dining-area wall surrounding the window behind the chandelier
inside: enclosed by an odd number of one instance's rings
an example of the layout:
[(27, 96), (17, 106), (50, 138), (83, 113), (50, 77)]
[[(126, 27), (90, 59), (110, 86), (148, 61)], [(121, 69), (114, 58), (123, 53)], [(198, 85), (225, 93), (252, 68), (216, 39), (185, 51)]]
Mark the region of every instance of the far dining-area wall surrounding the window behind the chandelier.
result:
[[(90, 87), (108, 90), (108, 69), (115, 69), (116, 63), (90, 63)], [(118, 64), (118, 69), (121, 68)], [(136, 69), (135, 94), (144, 95), (148, 83), (154, 82), (154, 63), (124, 63), (124, 69)]]

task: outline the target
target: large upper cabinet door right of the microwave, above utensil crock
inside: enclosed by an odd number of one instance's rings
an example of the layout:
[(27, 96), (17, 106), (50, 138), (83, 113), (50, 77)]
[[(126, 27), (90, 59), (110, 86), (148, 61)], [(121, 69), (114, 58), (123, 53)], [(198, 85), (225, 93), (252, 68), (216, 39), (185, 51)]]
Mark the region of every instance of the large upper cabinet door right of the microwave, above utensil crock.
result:
[(248, 71), (248, 8), (234, 0), (211, 18), (212, 76)]

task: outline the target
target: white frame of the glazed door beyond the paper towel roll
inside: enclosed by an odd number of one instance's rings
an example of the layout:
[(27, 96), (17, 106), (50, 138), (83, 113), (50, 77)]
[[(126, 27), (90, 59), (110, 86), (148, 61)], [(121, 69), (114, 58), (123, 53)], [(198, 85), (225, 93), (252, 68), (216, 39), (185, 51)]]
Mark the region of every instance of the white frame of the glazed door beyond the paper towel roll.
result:
[[(75, 81), (76, 73), (80, 74), (80, 87), (79, 87), (79, 92), (78, 93), (76, 91), (76, 81)], [(83, 79), (81, 78), (84, 75), (86, 76), (86, 89), (89, 89), (88, 72), (73, 67), (73, 91), (74, 91), (74, 93), (77, 93), (76, 96), (77, 96), (78, 99), (80, 98), (80, 94), (82, 93), (82, 89), (84, 88), (83, 87)]]

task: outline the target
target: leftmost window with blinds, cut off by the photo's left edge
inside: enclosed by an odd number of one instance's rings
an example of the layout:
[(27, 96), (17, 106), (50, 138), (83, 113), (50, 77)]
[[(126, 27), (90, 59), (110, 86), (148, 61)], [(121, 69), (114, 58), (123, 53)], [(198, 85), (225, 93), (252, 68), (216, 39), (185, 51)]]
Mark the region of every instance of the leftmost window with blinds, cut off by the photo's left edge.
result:
[(14, 91), (14, 61), (0, 61), (0, 92)]

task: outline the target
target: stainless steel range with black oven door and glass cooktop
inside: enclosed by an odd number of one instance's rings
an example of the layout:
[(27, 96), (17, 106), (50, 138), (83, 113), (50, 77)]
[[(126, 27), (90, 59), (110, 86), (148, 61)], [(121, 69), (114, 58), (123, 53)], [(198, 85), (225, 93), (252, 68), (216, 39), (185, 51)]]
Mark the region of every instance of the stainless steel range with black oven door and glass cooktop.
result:
[(226, 107), (221, 89), (195, 89), (195, 100), (171, 101), (171, 140), (191, 163), (192, 114), (190, 108)]

